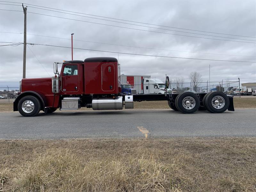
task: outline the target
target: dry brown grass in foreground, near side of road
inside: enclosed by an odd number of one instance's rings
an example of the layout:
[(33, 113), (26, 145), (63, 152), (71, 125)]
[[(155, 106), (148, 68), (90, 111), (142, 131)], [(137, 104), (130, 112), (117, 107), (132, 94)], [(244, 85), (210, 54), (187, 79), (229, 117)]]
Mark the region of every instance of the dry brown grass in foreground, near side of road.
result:
[(256, 138), (0, 140), (3, 191), (256, 191)]

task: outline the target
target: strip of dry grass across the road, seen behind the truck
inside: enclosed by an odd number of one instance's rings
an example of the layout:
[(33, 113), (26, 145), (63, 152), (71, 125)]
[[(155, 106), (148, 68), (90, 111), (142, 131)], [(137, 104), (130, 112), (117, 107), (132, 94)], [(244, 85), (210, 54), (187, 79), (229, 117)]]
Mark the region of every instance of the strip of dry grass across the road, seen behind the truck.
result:
[[(236, 108), (256, 108), (255, 98), (234, 97), (234, 107)], [(141, 101), (134, 102), (135, 109), (169, 109), (167, 101)], [(81, 108), (87, 110), (87, 108)], [(91, 109), (89, 109), (91, 110)], [(0, 103), (0, 111), (13, 111), (13, 103)]]

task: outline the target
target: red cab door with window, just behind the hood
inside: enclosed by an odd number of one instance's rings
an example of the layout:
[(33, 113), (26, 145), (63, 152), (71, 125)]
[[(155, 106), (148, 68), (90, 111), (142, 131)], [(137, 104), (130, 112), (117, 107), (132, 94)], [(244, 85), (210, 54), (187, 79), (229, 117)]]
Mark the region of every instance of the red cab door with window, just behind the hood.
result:
[(61, 91), (64, 94), (76, 94), (79, 91), (79, 73), (77, 64), (65, 64), (61, 73)]

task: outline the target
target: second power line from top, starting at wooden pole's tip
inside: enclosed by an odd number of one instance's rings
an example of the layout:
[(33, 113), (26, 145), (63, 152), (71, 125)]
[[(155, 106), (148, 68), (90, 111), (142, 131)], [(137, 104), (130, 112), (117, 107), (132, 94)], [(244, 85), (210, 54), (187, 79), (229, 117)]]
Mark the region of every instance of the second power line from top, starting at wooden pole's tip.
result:
[(234, 37), (214, 36), (214, 35), (206, 35), (206, 34), (201, 34), (201, 33), (191, 33), (191, 32), (186, 32), (186, 31), (178, 31), (178, 30), (172, 30), (172, 29), (164, 29), (164, 28), (157, 28), (157, 27), (149, 27), (149, 26), (145, 26), (145, 25), (137, 25), (137, 24), (132, 24), (132, 23), (120, 22), (120, 21), (113, 21), (113, 20), (107, 20), (107, 19), (100, 19), (100, 18), (95, 18), (95, 17), (89, 17), (89, 16), (84, 16), (84, 15), (77, 15), (77, 14), (72, 14), (72, 13), (65, 13), (65, 12), (60, 12), (60, 11), (53, 11), (53, 10), (49, 10), (49, 9), (43, 9), (43, 8), (32, 7), (32, 6), (28, 6), (28, 7), (35, 8), (35, 9), (42, 9), (42, 10), (52, 11), (52, 12), (59, 12), (59, 13), (64, 13), (64, 14), (69, 14), (69, 15), (76, 15), (76, 16), (80, 16), (80, 17), (87, 17), (87, 18), (92, 18), (92, 19), (105, 20), (105, 21), (112, 21), (112, 22), (117, 22), (117, 23), (122, 23), (122, 24), (128, 24), (128, 25), (135, 25), (135, 26), (140, 26), (140, 27), (148, 27), (148, 28), (162, 29), (162, 30), (168, 30), (168, 31), (176, 31), (176, 32), (181, 32), (181, 33), (190, 33), (190, 34), (204, 35), (204, 36), (213, 36), (213, 37), (221, 37), (221, 38), (229, 38), (229, 39), (239, 39), (239, 40), (245, 40), (245, 41), (255, 41), (255, 40), (251, 40), (251, 39), (241, 39), (241, 38), (234, 38)]

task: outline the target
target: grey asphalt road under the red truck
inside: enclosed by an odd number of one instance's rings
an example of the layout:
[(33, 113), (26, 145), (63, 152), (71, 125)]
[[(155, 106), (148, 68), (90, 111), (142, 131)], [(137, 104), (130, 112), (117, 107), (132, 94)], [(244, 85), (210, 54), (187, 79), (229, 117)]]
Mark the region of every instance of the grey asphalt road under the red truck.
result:
[(0, 112), (0, 139), (256, 136), (256, 109), (222, 114), (171, 109), (56, 111), (36, 117)]

